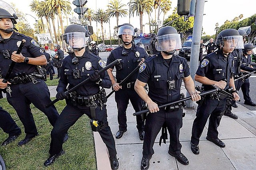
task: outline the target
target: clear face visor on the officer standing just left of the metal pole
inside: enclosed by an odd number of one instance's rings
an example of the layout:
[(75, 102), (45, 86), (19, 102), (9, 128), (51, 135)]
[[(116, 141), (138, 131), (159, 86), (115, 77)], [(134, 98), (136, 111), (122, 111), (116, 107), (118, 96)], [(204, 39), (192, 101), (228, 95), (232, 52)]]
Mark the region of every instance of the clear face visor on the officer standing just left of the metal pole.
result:
[(173, 51), (181, 48), (180, 34), (166, 34), (156, 37), (157, 51)]

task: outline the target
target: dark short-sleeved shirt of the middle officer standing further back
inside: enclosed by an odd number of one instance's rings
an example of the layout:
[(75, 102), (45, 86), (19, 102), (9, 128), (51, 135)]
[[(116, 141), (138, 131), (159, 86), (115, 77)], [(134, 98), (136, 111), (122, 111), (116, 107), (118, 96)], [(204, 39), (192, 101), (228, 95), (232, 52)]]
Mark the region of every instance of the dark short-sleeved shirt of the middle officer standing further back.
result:
[[(129, 49), (127, 49), (128, 55), (122, 55), (122, 51), (125, 50), (123, 46), (119, 46), (113, 51), (110, 52), (110, 55), (108, 56), (107, 65), (115, 61), (116, 59), (122, 59), (120, 61), (120, 65), (122, 65), (122, 69), (118, 69), (116, 67), (116, 81), (120, 83), (125, 77), (127, 77), (140, 63), (141, 58), (148, 57), (148, 54), (146, 53), (145, 49), (142, 47), (139, 47), (138, 45), (135, 45), (135, 48), (132, 46)], [(135, 55), (137, 53), (139, 57)], [(114, 67), (112, 67), (114, 69)], [(129, 80), (126, 82), (135, 82), (138, 76), (138, 72), (134, 73)]]

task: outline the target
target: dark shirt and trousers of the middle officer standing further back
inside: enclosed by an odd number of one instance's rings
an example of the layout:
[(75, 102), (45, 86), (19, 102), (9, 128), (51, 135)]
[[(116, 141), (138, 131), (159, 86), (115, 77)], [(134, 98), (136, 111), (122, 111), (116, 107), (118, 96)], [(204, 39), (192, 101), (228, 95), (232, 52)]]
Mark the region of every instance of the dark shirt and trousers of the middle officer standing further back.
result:
[[(125, 79), (141, 61), (141, 58), (148, 57), (144, 48), (138, 45), (132, 46), (130, 49), (124, 49), (123, 46), (119, 46), (110, 52), (108, 56), (107, 65), (115, 61), (116, 59), (122, 59), (120, 64), (116, 65), (116, 82), (120, 83)], [(112, 67), (111, 69), (114, 69)], [(130, 79), (122, 85), (122, 89), (115, 91), (115, 101), (118, 109), (118, 125), (119, 130), (126, 131), (127, 129), (127, 118), (126, 109), (129, 104), (129, 100), (132, 103), (132, 107), (135, 112), (141, 111), (142, 99), (134, 90), (134, 84), (137, 79), (138, 72), (134, 73)], [(142, 121), (141, 115), (136, 116), (138, 132), (144, 131), (144, 122)]]

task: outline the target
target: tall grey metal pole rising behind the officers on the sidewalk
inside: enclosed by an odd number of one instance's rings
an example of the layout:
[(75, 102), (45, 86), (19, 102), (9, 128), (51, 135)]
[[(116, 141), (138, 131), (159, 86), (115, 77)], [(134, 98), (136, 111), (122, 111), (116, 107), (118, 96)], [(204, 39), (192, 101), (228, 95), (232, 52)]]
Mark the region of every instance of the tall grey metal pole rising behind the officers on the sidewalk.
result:
[[(194, 19), (194, 28), (193, 28), (193, 38), (191, 46), (191, 57), (190, 57), (190, 75), (194, 80), (196, 75), (196, 70), (198, 68), (198, 58), (199, 58), (199, 49), (200, 49), (200, 40), (202, 34), (202, 21), (204, 16), (204, 0), (196, 1), (196, 15)], [(196, 82), (194, 80), (196, 85)], [(187, 96), (190, 96), (187, 92)], [(192, 108), (193, 102), (189, 100), (187, 102), (187, 107)]]

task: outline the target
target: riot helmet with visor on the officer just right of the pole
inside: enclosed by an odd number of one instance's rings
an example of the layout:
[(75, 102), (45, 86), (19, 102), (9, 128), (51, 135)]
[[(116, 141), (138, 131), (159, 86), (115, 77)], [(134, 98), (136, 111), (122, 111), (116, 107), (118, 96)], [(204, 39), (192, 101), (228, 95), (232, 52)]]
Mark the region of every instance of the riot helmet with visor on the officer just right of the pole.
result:
[(235, 29), (226, 29), (218, 34), (216, 39), (216, 45), (218, 45), (222, 49), (224, 47), (225, 42), (229, 43), (230, 49), (244, 48), (243, 36), (240, 36), (239, 32)]

